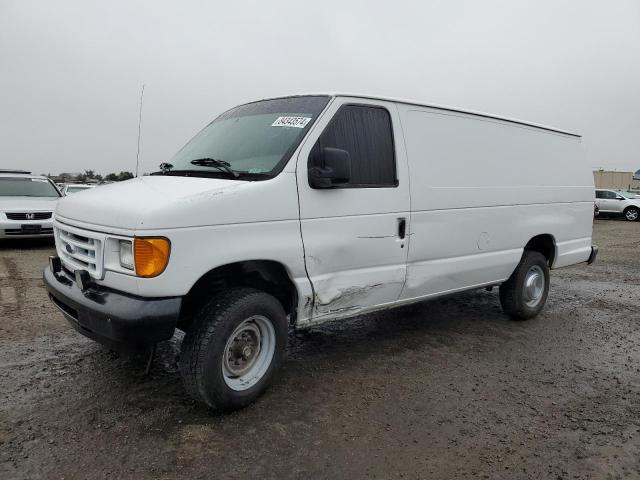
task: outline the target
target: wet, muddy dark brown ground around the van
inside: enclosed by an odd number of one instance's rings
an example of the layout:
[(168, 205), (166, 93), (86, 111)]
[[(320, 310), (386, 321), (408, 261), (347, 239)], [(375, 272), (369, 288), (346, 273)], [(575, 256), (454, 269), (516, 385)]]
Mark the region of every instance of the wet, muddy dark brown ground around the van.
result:
[(0, 245), (0, 478), (640, 478), (640, 223), (598, 220), (512, 322), (476, 291), (292, 334), (279, 381), (211, 413), (180, 339), (152, 373), (48, 302), (48, 242)]

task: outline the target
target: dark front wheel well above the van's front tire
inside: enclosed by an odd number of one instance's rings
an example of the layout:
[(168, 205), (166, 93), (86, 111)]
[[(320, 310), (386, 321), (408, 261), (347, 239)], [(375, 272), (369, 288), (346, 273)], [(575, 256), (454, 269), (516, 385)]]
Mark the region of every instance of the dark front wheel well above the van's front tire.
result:
[(272, 260), (249, 260), (214, 268), (200, 277), (184, 297), (178, 328), (186, 329), (207, 300), (234, 287), (252, 287), (273, 295), (290, 322), (295, 322), (298, 293), (284, 265)]

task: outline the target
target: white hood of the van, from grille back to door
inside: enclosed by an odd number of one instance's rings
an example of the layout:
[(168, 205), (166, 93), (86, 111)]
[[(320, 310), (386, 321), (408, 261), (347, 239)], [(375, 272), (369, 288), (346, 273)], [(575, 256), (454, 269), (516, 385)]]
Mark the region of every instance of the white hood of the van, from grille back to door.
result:
[(294, 172), (261, 181), (138, 177), (64, 197), (56, 218), (134, 232), (297, 220), (296, 177)]

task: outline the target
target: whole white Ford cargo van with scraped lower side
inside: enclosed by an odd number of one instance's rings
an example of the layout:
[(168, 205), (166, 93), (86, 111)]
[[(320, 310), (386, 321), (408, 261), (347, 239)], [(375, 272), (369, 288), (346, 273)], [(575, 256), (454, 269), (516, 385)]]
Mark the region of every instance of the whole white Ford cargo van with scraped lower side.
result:
[(494, 285), (527, 319), (549, 269), (597, 253), (578, 135), (371, 96), (241, 105), (81, 197), (55, 212), (51, 300), (111, 347), (184, 330), (187, 390), (224, 409), (265, 390), (289, 328)]

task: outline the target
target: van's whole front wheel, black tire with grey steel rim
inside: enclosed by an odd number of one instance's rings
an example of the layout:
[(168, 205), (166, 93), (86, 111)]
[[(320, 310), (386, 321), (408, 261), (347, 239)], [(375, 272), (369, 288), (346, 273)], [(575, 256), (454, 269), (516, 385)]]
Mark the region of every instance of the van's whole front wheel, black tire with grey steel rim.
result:
[(218, 295), (199, 311), (182, 342), (187, 392), (219, 410), (247, 406), (279, 370), (287, 331), (282, 305), (271, 295), (251, 288)]

